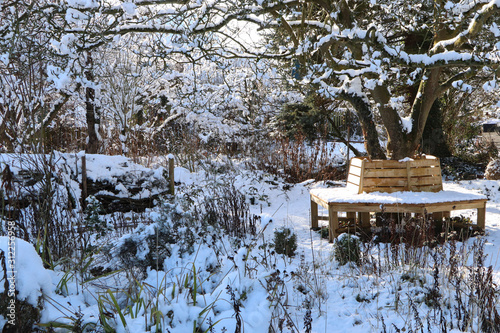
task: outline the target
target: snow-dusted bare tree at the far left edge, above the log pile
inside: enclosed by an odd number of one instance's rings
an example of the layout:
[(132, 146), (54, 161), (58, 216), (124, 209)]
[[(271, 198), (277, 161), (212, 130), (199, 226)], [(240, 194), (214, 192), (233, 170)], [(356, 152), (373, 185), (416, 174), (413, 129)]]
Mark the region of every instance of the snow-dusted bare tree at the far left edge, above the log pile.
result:
[(50, 29), (57, 19), (45, 1), (0, 6), (0, 142), (8, 151), (42, 151), (47, 126), (76, 84), (50, 47), (61, 31)]

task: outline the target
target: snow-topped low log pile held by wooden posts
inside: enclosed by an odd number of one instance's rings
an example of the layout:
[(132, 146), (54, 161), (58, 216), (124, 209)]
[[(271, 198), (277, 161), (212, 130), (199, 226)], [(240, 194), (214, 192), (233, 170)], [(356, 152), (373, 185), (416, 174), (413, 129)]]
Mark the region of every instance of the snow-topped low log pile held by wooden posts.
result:
[(171, 193), (167, 169), (148, 169), (123, 156), (2, 154), (0, 168), (2, 215), (10, 218), (47, 195), (67, 201), (69, 209), (84, 209), (85, 198), (94, 196), (109, 214), (143, 212)]

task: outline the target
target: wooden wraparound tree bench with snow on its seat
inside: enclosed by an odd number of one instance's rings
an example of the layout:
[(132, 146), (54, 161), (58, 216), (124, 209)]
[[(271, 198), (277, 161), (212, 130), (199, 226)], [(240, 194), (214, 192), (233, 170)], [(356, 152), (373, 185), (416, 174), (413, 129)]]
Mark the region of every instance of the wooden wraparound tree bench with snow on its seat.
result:
[[(330, 241), (339, 235), (339, 212), (370, 227), (370, 213), (432, 213), (433, 219), (442, 219), (453, 210), (477, 209), (477, 226), (485, 227), (487, 198), (453, 185), (443, 189), (439, 159), (434, 156), (402, 161), (356, 157), (351, 159), (346, 187), (313, 189), (310, 196), (311, 227), (328, 220)], [(318, 205), (328, 209), (327, 216), (318, 215)]]

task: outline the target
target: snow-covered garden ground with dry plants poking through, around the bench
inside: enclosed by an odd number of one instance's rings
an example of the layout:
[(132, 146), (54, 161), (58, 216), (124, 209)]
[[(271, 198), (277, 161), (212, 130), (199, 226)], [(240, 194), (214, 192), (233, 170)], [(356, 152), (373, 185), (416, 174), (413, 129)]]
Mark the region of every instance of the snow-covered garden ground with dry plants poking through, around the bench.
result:
[[(123, 163), (121, 159), (117, 161)], [(74, 324), (80, 320), (83, 324), (91, 323), (90, 329), (94, 327), (92, 323), (102, 327), (106, 313), (111, 314), (106, 322), (117, 332), (154, 332), (156, 326), (151, 324), (157, 315), (163, 318), (164, 332), (194, 332), (196, 326), (210, 331), (213, 323), (214, 332), (222, 332), (223, 328), (235, 332), (241, 324), (244, 332), (264, 333), (269, 331), (271, 322), (276, 331), (281, 327), (283, 332), (395, 332), (402, 328), (419, 331), (420, 324), (425, 331), (442, 332), (443, 322), (447, 323), (448, 332), (480, 331), (479, 319), (475, 317), (480, 304), (469, 300), (465, 289), (461, 297), (468, 304), (464, 309), (471, 310), (472, 324), (460, 327), (460, 320), (453, 319), (459, 308), (457, 292), (450, 282), (453, 277), (447, 276), (445, 268), (452, 258), (459, 258), (461, 274), (467, 280), (467, 272), (472, 272), (467, 267), (477, 261), (470, 249), (481, 237), (459, 242), (453, 245), (456, 248), (445, 244), (434, 250), (413, 249), (406, 252), (411, 252), (408, 261), (387, 255), (386, 245), (365, 245), (362, 253), (367, 257), (361, 266), (339, 266), (333, 257), (335, 245), (310, 230), (309, 191), (325, 184), (311, 180), (291, 185), (261, 172), (235, 169), (231, 173), (209, 174), (176, 168), (176, 181), (181, 183), (180, 192), (194, 193), (193, 189), (197, 189), (206, 195), (209, 186), (234, 185), (253, 203), (251, 213), (260, 217), (256, 237), (235, 244), (219, 235), (213, 243), (200, 242), (192, 253), (181, 253), (180, 247), (172, 244), (172, 255), (165, 259), (163, 269), (150, 268), (136, 282), (123, 272), (82, 281), (74, 270), (44, 269), (36, 252), (17, 240), (19, 297), (35, 305), (37, 297), (44, 295), (42, 323)], [(493, 282), (498, 285), (500, 181), (463, 181), (454, 188), (475, 190), (489, 199), (484, 266), (492, 267)], [(473, 210), (458, 213), (474, 219)], [(156, 210), (148, 214), (152, 221), (161, 216)], [(290, 228), (297, 237), (293, 258), (274, 254), (264, 246), (273, 241), (274, 231), (282, 227)], [(110, 236), (106, 243), (119, 247), (127, 237), (154, 232), (152, 226), (142, 226), (131, 235)], [(0, 238), (0, 247), (8, 252), (6, 237)], [(149, 250), (147, 245), (137, 249), (137, 256), (145, 256)], [(446, 262), (433, 262), (432, 254), (436, 251), (441, 251)], [(453, 255), (450, 251), (454, 251)], [(436, 277), (433, 274), (438, 266)], [(441, 305), (433, 307), (427, 297), (436, 280), (440, 281)], [(3, 290), (3, 283), (0, 288)], [(116, 297), (116, 304), (111, 295)], [(491, 296), (493, 307), (500, 311), (498, 293)], [(100, 312), (103, 304), (106, 311)], [(6, 319), (0, 321), (1, 327)]]

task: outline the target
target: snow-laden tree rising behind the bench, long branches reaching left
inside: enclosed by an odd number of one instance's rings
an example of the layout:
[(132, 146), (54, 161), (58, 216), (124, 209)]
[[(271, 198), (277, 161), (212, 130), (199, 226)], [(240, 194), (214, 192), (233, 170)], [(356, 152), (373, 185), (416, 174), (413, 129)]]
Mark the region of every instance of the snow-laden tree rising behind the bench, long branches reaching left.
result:
[[(476, 89), (469, 84), (472, 79), (485, 90), (497, 87), (499, 0), (152, 0), (99, 11), (92, 4), (97, 6), (87, 1), (73, 10), (114, 17), (99, 20), (107, 26), (94, 25), (99, 28), (91, 34), (95, 44), (108, 36), (169, 33), (182, 38), (163, 53), (197, 49), (209, 56), (298, 60), (303, 82), (352, 105), (372, 158), (413, 155), (431, 108), (448, 90)], [(228, 34), (234, 21), (278, 31), (286, 43), (235, 51), (228, 39), (243, 43)], [(378, 119), (387, 132), (386, 151), (376, 130)]]

